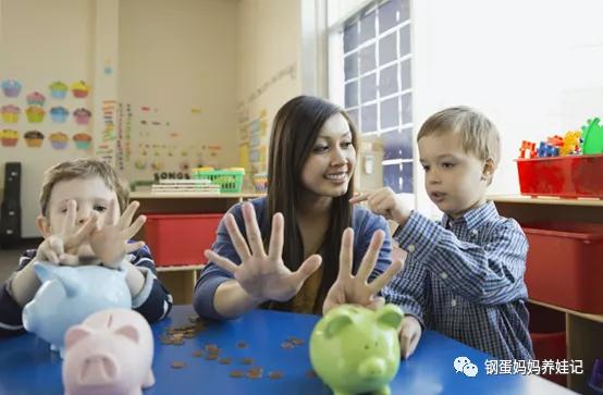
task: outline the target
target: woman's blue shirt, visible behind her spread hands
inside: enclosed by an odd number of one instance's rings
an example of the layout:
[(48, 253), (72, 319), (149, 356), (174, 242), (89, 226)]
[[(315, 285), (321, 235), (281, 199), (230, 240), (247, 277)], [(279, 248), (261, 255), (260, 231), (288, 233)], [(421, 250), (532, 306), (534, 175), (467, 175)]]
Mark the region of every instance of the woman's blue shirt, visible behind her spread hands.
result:
[[(256, 210), (258, 225), (260, 227), (261, 234), (268, 234), (270, 230), (271, 219), (269, 219), (267, 215), (267, 209), (266, 209), (266, 206), (268, 203), (267, 198), (262, 197), (262, 198), (254, 199), (251, 200), (251, 203), (254, 205), (254, 208)], [(242, 203), (237, 203), (233, 206), (229, 210), (229, 212), (234, 215), (236, 223), (238, 225), (238, 229), (241, 230), (241, 233), (243, 234), (244, 237), (246, 237), (245, 222), (243, 220), (242, 207), (243, 207)], [(385, 232), (385, 238), (383, 240), (381, 250), (379, 251), (377, 263), (369, 277), (369, 280), (372, 280), (377, 277), (379, 274), (383, 273), (391, 263), (392, 246), (391, 246), (391, 237), (390, 237), (390, 227), (387, 226), (387, 222), (383, 219), (383, 217), (376, 215), (361, 206), (354, 205), (353, 210), (354, 210), (352, 214), (352, 227), (354, 229), (354, 252), (353, 252), (354, 262), (352, 267), (353, 273), (356, 273), (356, 271), (358, 270), (360, 261), (362, 260), (362, 257), (365, 256), (365, 252), (369, 247), (372, 234), (378, 230), (382, 230), (383, 232)], [(287, 221), (287, 219), (285, 219), (285, 221)], [(218, 232), (217, 232), (216, 243), (213, 243), (211, 249), (214, 252), (221, 255), (222, 257), (229, 258), (234, 263), (237, 263), (237, 264), (241, 263), (238, 254), (236, 254), (234, 245), (231, 242), (229, 232), (226, 231), (224, 220), (220, 222), (220, 226), (218, 227)], [(323, 261), (322, 264), (323, 266), (335, 264), (336, 267), (339, 267), (340, 263), (339, 261), (337, 262)], [(193, 299), (193, 304), (199, 316), (206, 317), (206, 318), (219, 319), (219, 320), (224, 319), (224, 317), (219, 314), (213, 307), (213, 295), (216, 294), (216, 289), (220, 284), (232, 279), (233, 276), (231, 273), (224, 271), (216, 263), (209, 262), (206, 266), (206, 268), (201, 272), (201, 275), (199, 276), (199, 280), (197, 281), (197, 284), (195, 285), (195, 295)]]

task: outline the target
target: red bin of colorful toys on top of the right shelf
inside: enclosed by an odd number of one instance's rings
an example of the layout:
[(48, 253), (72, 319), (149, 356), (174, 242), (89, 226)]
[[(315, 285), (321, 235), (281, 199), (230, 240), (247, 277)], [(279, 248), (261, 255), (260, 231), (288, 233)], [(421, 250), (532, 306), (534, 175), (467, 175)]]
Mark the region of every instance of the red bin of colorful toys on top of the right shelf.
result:
[(603, 198), (603, 155), (517, 159), (521, 195)]

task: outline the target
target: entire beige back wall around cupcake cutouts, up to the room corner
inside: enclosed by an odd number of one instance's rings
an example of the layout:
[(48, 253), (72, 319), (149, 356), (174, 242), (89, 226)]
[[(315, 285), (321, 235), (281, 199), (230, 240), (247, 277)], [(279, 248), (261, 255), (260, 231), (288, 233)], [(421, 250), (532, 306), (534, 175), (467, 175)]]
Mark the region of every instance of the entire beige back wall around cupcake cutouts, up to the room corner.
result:
[[(238, 151), (232, 144), (237, 138), (237, 4), (236, 0), (179, 0), (177, 7), (167, 0), (0, 0), (0, 81), (23, 84), (19, 98), (0, 94), (0, 107), (12, 103), (24, 110), (25, 96), (39, 90), (47, 97), (46, 111), (59, 104), (71, 111), (93, 110), (86, 127), (76, 125), (71, 115), (64, 124), (52, 123), (48, 114), (40, 124), (29, 124), (22, 114), (12, 127), (23, 134), (35, 126), (47, 136), (57, 131), (69, 136), (87, 132), (94, 136), (90, 149), (75, 149), (70, 141), (56, 150), (48, 138), (40, 148), (29, 148), (23, 139), (14, 148), (0, 145), (0, 162), (23, 163), (24, 237), (38, 236), (35, 218), (42, 172), (59, 161), (111, 158), (131, 181), (152, 180), (157, 171), (177, 172), (184, 164), (237, 164)], [(67, 84), (84, 79), (91, 85), (90, 95), (53, 100), (48, 85), (57, 79)], [(7, 126), (13, 125), (0, 124), (0, 129)], [(136, 169), (137, 160), (146, 169)], [(0, 185), (2, 177), (3, 169)]]

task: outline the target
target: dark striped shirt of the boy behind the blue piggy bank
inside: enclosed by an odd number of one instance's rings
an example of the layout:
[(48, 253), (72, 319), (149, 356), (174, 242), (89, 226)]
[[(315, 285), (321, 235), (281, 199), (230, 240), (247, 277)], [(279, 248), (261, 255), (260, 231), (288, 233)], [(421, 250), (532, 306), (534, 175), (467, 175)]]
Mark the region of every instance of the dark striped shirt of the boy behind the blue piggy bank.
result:
[[(15, 273), (30, 263), (35, 256), (35, 249), (23, 252)], [(155, 261), (149, 247), (144, 246), (133, 254), (126, 255), (126, 259), (145, 276), (143, 289), (132, 298), (132, 308), (143, 314), (150, 323), (161, 320), (170, 312), (173, 299), (172, 295), (157, 279)], [(14, 300), (10, 292), (10, 282), (13, 276), (0, 289), (0, 337), (25, 332), (22, 321), (23, 308)]]

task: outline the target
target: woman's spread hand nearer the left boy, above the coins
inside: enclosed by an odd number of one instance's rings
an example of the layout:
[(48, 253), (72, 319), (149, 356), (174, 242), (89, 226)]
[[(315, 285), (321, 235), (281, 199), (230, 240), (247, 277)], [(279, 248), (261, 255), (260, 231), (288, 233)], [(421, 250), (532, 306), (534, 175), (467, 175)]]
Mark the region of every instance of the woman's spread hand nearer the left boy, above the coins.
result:
[[(232, 214), (224, 215), (226, 231), (231, 236), (241, 264), (227, 258), (206, 250), (205, 256), (220, 268), (231, 272), (241, 287), (251, 297), (259, 300), (286, 301), (294, 297), (304, 282), (320, 267), (322, 258), (312, 255), (306, 259), (299, 269), (292, 272), (283, 262), (284, 219), (278, 212), (272, 217), (272, 233), (268, 255), (264, 251), (261, 233), (256, 219), (254, 206), (243, 205), (243, 219), (249, 246), (238, 230)], [(249, 247), (251, 250), (249, 250)]]

